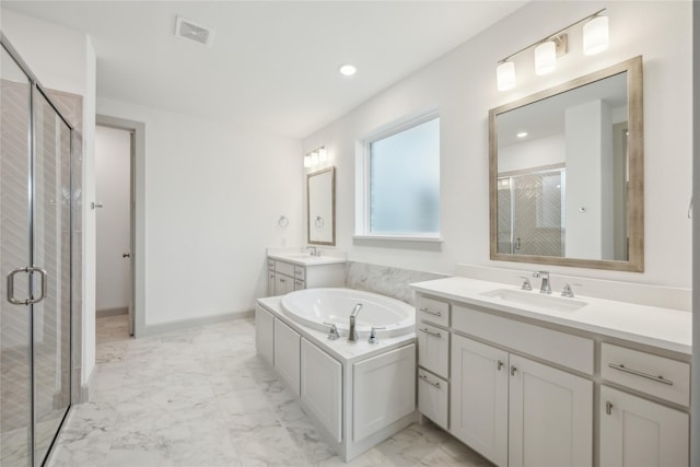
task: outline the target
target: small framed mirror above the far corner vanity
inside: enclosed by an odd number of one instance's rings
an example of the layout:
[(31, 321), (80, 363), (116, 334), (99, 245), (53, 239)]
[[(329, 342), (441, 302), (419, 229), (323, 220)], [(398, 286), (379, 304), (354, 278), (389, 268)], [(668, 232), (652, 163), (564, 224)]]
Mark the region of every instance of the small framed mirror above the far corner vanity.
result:
[(336, 244), (336, 167), (306, 175), (308, 243)]

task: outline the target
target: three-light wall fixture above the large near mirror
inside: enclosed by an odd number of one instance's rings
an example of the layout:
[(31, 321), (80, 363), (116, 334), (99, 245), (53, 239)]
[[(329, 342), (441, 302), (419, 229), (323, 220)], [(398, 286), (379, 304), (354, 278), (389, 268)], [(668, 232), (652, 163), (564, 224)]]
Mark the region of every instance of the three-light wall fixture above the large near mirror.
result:
[(585, 22), (583, 25), (584, 55), (599, 54), (608, 48), (608, 17), (600, 15), (604, 11), (605, 9), (596, 11), (500, 60), (495, 68), (498, 90), (508, 91), (515, 87), (515, 63), (511, 59), (532, 48), (535, 48), (535, 73), (542, 75), (555, 71), (557, 57), (561, 57), (569, 51), (569, 36), (565, 33), (581, 23)]

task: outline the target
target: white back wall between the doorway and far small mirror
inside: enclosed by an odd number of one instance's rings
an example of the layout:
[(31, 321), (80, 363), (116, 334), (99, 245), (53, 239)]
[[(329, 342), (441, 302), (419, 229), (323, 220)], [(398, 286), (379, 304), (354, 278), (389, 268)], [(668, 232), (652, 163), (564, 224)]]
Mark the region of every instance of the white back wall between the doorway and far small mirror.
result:
[(301, 142), (110, 100), (97, 112), (145, 124), (145, 325), (253, 310), (266, 247), (302, 242)]

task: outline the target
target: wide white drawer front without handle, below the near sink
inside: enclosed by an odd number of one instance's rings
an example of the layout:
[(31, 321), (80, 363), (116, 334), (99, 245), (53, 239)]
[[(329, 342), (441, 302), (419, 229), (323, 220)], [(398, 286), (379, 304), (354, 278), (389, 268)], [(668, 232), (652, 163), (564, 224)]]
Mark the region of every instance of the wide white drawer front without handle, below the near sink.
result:
[(593, 339), (454, 305), (453, 330), (593, 374)]

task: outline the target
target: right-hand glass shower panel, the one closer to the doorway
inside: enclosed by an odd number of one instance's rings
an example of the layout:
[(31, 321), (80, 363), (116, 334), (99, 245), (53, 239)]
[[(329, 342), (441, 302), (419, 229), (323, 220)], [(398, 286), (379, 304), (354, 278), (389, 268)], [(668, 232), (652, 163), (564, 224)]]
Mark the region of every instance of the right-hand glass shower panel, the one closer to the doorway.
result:
[(34, 90), (33, 264), (46, 271), (34, 316), (35, 463), (46, 456), (70, 406), (70, 128)]

